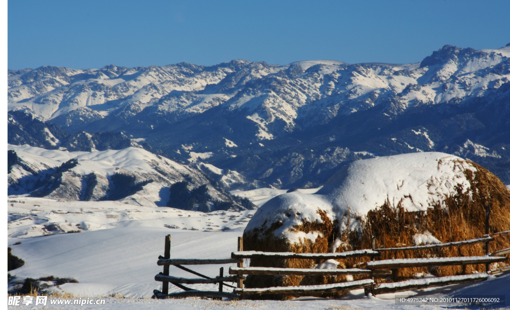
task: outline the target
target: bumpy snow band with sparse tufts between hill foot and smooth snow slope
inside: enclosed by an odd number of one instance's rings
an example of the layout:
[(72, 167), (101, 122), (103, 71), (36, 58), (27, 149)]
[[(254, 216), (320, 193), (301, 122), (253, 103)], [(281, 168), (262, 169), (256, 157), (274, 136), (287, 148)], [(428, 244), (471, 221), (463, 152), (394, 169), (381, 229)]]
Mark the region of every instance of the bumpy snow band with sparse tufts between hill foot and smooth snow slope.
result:
[[(120, 227), (159, 227), (173, 230), (225, 231), (246, 227), (255, 210), (202, 213), (169, 207), (133, 206), (118, 201), (56, 201), (17, 197), (8, 200), (8, 236), (27, 238), (57, 231)], [(50, 224), (54, 226), (49, 227)], [(58, 226), (58, 227), (57, 227)], [(52, 228), (57, 228), (52, 230)]]

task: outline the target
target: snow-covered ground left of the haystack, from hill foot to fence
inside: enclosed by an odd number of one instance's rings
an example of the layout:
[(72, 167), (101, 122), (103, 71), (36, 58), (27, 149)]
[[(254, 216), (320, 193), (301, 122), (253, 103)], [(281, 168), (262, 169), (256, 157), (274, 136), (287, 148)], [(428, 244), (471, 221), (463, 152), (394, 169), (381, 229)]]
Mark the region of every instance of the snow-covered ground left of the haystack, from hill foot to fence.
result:
[[(156, 262), (163, 255), (166, 234), (172, 235), (172, 258), (229, 258), (237, 250), (237, 237), (243, 234), (254, 212), (202, 213), (118, 201), (65, 202), (11, 196), (8, 244), (25, 265), (10, 274), (18, 279), (52, 275), (75, 278), (79, 283), (60, 288), (79, 295), (150, 297), (154, 289), (161, 289), (154, 276), (162, 271)], [(56, 227), (60, 229), (54, 230)], [(54, 233), (77, 230), (81, 232)], [(21, 244), (14, 245), (17, 242)], [(217, 276), (220, 267), (192, 269)], [(227, 272), (230, 266), (223, 267)], [(171, 274), (190, 276), (177, 268), (172, 268)], [(214, 288), (209, 284), (190, 286)]]

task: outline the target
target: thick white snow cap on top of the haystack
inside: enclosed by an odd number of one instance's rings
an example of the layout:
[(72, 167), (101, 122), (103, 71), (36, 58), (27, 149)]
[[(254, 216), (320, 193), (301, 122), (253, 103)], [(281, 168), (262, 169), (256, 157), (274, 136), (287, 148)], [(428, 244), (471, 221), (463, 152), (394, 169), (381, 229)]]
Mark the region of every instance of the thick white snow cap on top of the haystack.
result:
[[(333, 221), (347, 212), (363, 218), (385, 201), (393, 206), (400, 202), (407, 211), (426, 211), (435, 204), (445, 207), (444, 198), (457, 194), (457, 187), (463, 193), (470, 189), (466, 170), (476, 171), (460, 157), (437, 152), (354, 161), (335, 173), (315, 194), (293, 192), (269, 200), (253, 216), (246, 232), (282, 222), (273, 232), (276, 237), (285, 237), (291, 243), (299, 242), (300, 238), (315, 241), (319, 232), (305, 234), (292, 228), (303, 222), (322, 223), (317, 209), (325, 211)], [(344, 222), (340, 221), (340, 225)]]

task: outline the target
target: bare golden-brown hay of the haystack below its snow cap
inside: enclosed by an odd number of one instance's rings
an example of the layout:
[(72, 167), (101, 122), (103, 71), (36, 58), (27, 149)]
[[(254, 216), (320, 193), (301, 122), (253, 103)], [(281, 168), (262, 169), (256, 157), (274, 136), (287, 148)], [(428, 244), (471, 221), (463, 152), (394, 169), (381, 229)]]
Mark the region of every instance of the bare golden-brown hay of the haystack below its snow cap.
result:
[[(245, 232), (245, 251), (265, 252), (294, 252), (294, 253), (325, 253), (340, 238), (342, 247), (335, 249), (337, 252), (370, 249), (371, 236), (375, 237), (376, 248), (404, 247), (414, 245), (414, 236), (424, 232), (430, 232), (441, 242), (455, 242), (475, 239), (485, 234), (486, 209), (490, 205), (490, 232), (510, 230), (510, 192), (507, 187), (492, 173), (480, 165), (468, 161), (476, 172), (465, 170), (466, 178), (471, 184), (471, 197), (469, 193), (463, 193), (463, 188), (457, 185), (456, 194), (445, 199), (446, 208), (439, 204), (430, 205), (429, 209), (420, 212), (405, 211), (400, 203), (391, 206), (386, 201), (380, 207), (368, 212), (365, 218), (353, 217), (347, 212), (344, 216), (347, 221), (355, 220), (362, 223), (361, 233), (358, 231), (338, 231), (335, 228), (339, 220), (332, 222), (325, 211), (318, 210), (322, 223), (304, 222), (294, 226), (295, 231), (317, 231), (319, 235), (315, 242), (301, 240), (299, 244), (290, 244), (284, 239), (276, 239), (272, 231), (282, 226), (281, 223), (273, 224), (269, 229), (253, 229)], [(352, 217), (352, 218), (351, 218)], [(264, 227), (265, 225), (262, 225)], [(349, 227), (347, 225), (346, 227)], [(259, 236), (263, 236), (259, 239)], [(496, 251), (510, 247), (510, 237), (500, 237), (491, 242), (490, 251)], [(451, 256), (478, 256), (485, 255), (484, 244), (465, 245), (433, 250), (409, 250), (396, 252), (382, 252), (378, 259), (393, 258), (422, 258), (422, 257), (451, 257)], [(368, 261), (368, 257), (350, 258), (341, 261), (339, 268), (360, 268)], [(253, 258), (250, 261), (252, 267), (286, 267), (286, 268), (313, 268), (321, 260), (313, 259), (268, 259)], [(496, 266), (504, 266), (493, 264)], [(437, 268), (407, 268), (394, 270), (393, 281), (399, 281), (416, 276), (419, 273), (431, 273), (436, 276), (451, 276), (458, 274), (470, 274), (485, 271), (484, 265), (468, 266), (444, 266)], [(355, 276), (354, 279), (367, 278), (367, 276)], [(247, 288), (264, 288), (272, 286), (311, 285), (346, 281), (345, 276), (322, 277), (322, 276), (248, 276), (245, 285)], [(379, 280), (380, 281), (380, 280)], [(386, 280), (382, 280), (386, 281)], [(329, 296), (335, 294), (329, 294)], [(338, 295), (338, 294), (337, 294)], [(291, 298), (289, 296), (261, 296), (262, 298)], [(322, 295), (322, 297), (327, 297)]]

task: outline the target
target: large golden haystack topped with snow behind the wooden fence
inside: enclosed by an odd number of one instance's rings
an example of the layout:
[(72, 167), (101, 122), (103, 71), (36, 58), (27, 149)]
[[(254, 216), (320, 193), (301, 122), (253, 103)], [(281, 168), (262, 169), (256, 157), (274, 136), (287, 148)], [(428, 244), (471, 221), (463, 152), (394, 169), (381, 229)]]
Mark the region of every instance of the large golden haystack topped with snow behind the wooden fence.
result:
[[(454, 242), (485, 233), (485, 205), (491, 232), (510, 229), (510, 191), (481, 166), (444, 153), (413, 153), (358, 160), (344, 166), (315, 194), (288, 193), (264, 204), (244, 231), (244, 249), (320, 253)], [(509, 247), (508, 239), (491, 243)], [(394, 256), (396, 255), (396, 256)], [(428, 251), (383, 252), (381, 259), (484, 255), (483, 245)], [(368, 258), (347, 259), (338, 268), (364, 267)], [(321, 261), (251, 259), (250, 266), (324, 268)], [(329, 264), (335, 266), (335, 264)], [(495, 264), (493, 264), (495, 265)], [(469, 265), (403, 269), (394, 280), (418, 273), (438, 276), (483, 271)], [(345, 277), (264, 277), (247, 287), (304, 285)]]

